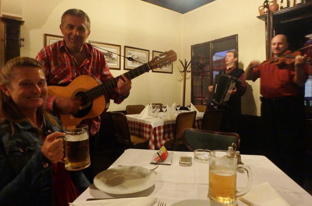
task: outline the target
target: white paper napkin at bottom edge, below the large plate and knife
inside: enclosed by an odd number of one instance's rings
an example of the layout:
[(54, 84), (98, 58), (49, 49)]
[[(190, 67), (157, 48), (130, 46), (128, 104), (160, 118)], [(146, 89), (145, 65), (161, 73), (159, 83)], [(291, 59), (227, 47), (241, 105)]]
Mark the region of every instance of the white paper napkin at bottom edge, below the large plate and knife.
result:
[(139, 197), (139, 198), (120, 198), (120, 199), (102, 199), (92, 200), (79, 203), (69, 203), (71, 206), (151, 206), (156, 203), (157, 198), (154, 197)]

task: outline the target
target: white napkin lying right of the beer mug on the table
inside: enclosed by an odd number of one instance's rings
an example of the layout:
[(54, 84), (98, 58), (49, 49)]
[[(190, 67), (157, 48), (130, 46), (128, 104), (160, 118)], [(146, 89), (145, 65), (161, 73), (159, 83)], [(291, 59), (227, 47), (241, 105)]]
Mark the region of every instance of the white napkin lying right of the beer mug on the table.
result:
[(238, 199), (245, 204), (255, 206), (290, 205), (268, 182), (252, 187), (247, 194)]

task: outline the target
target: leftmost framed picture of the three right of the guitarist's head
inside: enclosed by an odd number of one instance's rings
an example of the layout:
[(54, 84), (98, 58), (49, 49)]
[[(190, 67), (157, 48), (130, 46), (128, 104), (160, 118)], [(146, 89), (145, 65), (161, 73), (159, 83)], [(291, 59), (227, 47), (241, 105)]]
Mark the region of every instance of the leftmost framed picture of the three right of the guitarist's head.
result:
[(96, 41), (89, 41), (89, 44), (96, 46), (97, 49), (99, 49), (101, 52), (104, 53), (105, 59), (110, 69), (115, 70), (121, 69), (120, 68), (121, 45)]

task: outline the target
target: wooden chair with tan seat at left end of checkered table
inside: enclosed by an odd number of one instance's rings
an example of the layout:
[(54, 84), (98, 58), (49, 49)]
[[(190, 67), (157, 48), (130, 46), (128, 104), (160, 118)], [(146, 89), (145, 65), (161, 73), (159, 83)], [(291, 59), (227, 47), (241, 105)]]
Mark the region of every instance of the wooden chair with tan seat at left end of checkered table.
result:
[(121, 150), (116, 147), (117, 151), (123, 152), (124, 149), (128, 148), (149, 149), (149, 140), (130, 134), (128, 120), (124, 113), (110, 112), (110, 114), (114, 123), (116, 143), (125, 146)]

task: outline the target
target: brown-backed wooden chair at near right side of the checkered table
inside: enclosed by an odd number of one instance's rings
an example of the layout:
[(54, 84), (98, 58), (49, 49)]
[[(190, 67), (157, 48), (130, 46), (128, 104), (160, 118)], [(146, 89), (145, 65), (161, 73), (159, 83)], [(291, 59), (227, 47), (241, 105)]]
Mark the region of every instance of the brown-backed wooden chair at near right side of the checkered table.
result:
[(193, 128), (196, 118), (196, 111), (179, 113), (174, 125), (173, 139), (167, 141), (164, 146), (171, 151), (185, 151), (184, 143), (182, 141), (182, 133), (186, 128)]

